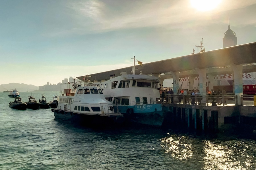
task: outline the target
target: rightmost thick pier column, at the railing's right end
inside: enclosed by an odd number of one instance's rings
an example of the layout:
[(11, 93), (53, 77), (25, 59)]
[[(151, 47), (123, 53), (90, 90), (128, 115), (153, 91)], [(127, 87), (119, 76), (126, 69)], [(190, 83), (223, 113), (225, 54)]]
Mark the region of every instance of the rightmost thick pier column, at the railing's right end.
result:
[(233, 69), (234, 90), (237, 95), (237, 105), (242, 105), (241, 95), (243, 94), (243, 65), (231, 64)]

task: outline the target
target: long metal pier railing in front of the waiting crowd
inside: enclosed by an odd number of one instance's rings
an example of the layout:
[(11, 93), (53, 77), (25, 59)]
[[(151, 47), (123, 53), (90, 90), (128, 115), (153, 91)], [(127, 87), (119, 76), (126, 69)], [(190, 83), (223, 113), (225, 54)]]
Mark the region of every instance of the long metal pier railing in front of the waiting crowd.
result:
[(162, 103), (191, 105), (237, 105), (236, 95), (165, 95)]

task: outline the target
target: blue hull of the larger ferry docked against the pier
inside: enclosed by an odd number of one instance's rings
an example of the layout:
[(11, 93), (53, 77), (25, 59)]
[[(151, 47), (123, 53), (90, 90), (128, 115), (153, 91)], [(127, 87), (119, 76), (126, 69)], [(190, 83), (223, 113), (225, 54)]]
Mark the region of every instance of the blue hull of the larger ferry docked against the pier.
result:
[[(114, 111), (117, 112), (116, 106), (114, 106)], [(125, 120), (138, 124), (162, 126), (164, 121), (161, 104), (118, 106), (118, 112), (124, 115)]]

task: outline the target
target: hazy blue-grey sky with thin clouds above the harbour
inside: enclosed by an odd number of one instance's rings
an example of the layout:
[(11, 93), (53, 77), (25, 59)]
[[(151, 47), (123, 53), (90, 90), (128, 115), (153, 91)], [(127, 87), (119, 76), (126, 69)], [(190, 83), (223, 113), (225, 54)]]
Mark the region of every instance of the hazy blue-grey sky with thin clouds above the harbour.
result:
[(1, 0), (0, 84), (57, 84), (256, 41), (255, 0)]

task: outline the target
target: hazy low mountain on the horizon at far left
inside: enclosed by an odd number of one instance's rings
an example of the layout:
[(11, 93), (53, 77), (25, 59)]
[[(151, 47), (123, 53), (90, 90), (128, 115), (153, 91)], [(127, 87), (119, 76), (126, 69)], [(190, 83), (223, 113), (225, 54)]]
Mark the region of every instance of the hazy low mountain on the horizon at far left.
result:
[(9, 84), (1, 84), (0, 85), (0, 92), (5, 90), (13, 90), (16, 89), (18, 92), (30, 92), (34, 90), (38, 90), (38, 86), (34, 86), (32, 84), (24, 84), (24, 83), (9, 83)]

